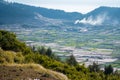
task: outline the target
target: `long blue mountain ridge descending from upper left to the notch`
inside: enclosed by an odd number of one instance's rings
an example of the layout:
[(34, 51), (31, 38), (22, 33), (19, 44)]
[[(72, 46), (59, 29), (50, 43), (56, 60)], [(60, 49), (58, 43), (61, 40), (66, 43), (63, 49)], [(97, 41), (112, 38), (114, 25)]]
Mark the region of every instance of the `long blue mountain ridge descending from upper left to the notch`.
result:
[(50, 19), (76, 20), (81, 19), (82, 14), (77, 12), (64, 12), (42, 7), (34, 7), (18, 3), (0, 1), (0, 23), (11, 23), (33, 20), (39, 14)]

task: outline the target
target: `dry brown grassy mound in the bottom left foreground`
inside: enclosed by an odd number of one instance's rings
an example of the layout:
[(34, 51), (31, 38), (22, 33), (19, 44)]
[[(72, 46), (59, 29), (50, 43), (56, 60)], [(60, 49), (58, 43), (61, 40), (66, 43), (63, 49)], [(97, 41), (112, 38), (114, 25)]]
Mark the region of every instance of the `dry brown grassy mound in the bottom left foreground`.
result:
[(68, 80), (62, 73), (38, 64), (0, 64), (0, 80)]

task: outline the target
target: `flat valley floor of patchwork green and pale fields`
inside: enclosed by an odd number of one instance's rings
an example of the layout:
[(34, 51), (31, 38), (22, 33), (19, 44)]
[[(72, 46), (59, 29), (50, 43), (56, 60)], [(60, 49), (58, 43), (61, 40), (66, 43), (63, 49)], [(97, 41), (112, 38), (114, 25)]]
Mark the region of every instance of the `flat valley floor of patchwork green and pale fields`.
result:
[(1, 29), (15, 32), (18, 39), (29, 46), (51, 47), (63, 61), (65, 57), (73, 54), (80, 64), (112, 63), (114, 67), (119, 68), (120, 30), (116, 26), (106, 26), (14, 24), (1, 25)]

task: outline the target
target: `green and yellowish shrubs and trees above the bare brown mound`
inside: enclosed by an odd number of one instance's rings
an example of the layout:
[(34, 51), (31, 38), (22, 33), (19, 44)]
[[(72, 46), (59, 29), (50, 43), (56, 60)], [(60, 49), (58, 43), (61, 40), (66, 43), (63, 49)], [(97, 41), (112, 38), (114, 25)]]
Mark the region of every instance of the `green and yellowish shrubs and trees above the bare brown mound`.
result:
[[(88, 68), (85, 68), (84, 65), (78, 65), (75, 62), (73, 56), (71, 56), (70, 59), (67, 60), (67, 63), (62, 63), (57, 60), (55, 56), (53, 56), (50, 49), (47, 49), (47, 51), (45, 49), (31, 49), (27, 47), (25, 43), (17, 40), (16, 36), (13, 33), (7, 31), (0, 31), (0, 47), (0, 65), (29, 65), (29, 63), (35, 63), (37, 65), (42, 65), (47, 69), (63, 73), (71, 80), (120, 79), (120, 74), (117, 71), (113, 72), (111, 66), (105, 67), (107, 72), (100, 70), (99, 66), (95, 63), (93, 65), (90, 65)], [(35, 67), (34, 69), (38, 68)], [(109, 70), (111, 70), (111, 72), (109, 72)], [(2, 74), (5, 75), (6, 73)], [(49, 74), (52, 75), (53, 73), (50, 72)]]

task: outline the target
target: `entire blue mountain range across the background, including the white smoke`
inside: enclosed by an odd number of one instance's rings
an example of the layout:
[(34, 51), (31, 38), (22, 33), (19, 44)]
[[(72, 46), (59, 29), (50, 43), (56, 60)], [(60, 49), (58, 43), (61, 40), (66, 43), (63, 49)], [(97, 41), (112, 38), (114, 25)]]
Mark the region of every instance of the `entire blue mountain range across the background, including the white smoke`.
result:
[(90, 25), (118, 25), (120, 24), (119, 13), (120, 8), (115, 7), (99, 7), (87, 14), (81, 14), (19, 3), (8, 3), (0, 0), (0, 24), (28, 23), (44, 25), (46, 23), (47, 25), (66, 24), (75, 26), (78, 23), (82, 23)]

